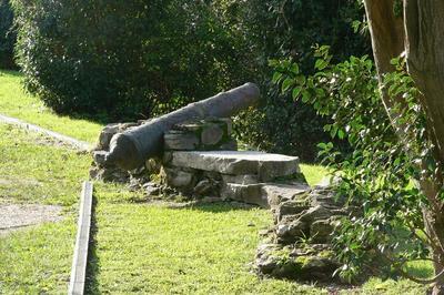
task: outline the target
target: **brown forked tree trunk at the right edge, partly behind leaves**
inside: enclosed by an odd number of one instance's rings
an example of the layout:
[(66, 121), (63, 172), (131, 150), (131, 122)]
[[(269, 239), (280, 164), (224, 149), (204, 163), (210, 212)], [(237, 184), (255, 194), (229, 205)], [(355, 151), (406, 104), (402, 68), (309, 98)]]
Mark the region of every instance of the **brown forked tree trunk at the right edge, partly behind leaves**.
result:
[[(405, 22), (394, 16), (394, 0), (364, 0), (364, 4), (380, 84), (383, 75), (394, 70), (391, 60), (405, 51), (408, 72), (423, 94), (426, 128), (441, 167), (444, 164), (444, 1), (421, 1), (420, 4), (420, 0), (404, 0)], [(404, 139), (404, 129), (396, 124), (392, 109), (395, 103), (404, 103), (402, 98), (390, 98), (384, 91), (381, 96), (397, 135)], [(427, 163), (420, 165), (426, 167)], [(434, 268), (438, 275), (444, 268), (444, 206), (438, 199), (443, 184), (441, 170), (434, 177), (417, 181), (431, 205), (424, 211), (424, 223), (433, 240)], [(433, 294), (444, 294), (444, 276), (437, 279)]]

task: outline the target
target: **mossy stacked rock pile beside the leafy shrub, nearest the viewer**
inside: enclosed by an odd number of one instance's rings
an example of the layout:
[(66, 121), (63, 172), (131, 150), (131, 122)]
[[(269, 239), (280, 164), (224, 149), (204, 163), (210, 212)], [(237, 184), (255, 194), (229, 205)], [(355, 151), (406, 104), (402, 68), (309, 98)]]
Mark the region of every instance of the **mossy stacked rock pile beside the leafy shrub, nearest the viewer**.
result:
[(335, 199), (330, 184), (279, 204), (275, 225), (256, 253), (258, 271), (268, 276), (302, 281), (339, 281), (331, 242), (339, 221), (352, 214), (345, 200)]

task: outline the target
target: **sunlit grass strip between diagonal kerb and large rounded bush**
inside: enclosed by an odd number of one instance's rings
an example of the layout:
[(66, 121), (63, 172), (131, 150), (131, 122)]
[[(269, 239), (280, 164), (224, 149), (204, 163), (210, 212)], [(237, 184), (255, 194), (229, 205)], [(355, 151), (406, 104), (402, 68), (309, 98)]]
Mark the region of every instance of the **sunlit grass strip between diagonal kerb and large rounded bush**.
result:
[(27, 94), (21, 84), (22, 75), (14, 71), (0, 70), (0, 114), (18, 118), (29, 123), (94, 143), (101, 124), (58, 116), (36, 96)]

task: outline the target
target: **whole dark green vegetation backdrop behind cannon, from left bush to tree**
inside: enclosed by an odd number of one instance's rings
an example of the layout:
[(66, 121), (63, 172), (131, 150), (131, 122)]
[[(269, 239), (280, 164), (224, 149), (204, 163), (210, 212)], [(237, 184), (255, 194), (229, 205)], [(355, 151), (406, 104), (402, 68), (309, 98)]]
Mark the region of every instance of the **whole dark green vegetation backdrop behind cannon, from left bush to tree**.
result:
[[(291, 58), (309, 74), (316, 43), (330, 44), (337, 60), (371, 50), (352, 29), (364, 14), (355, 0), (12, 3), (26, 88), (56, 112), (104, 122), (147, 119), (253, 81), (263, 104), (235, 120), (238, 135), (305, 161), (329, 139), (325, 120), (280, 94), (269, 60)], [(10, 26), (4, 20), (0, 28)]]

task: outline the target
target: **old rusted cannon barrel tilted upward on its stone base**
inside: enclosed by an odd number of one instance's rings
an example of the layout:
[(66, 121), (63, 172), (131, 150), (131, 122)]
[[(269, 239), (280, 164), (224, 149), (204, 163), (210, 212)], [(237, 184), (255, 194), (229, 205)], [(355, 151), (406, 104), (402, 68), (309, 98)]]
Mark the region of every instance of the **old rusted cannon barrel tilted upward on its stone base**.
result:
[(256, 104), (259, 99), (259, 88), (253, 83), (246, 83), (210, 99), (191, 103), (141, 126), (118, 133), (111, 140), (105, 162), (125, 170), (137, 169), (148, 157), (161, 153), (163, 134), (175, 124), (209, 116), (229, 118)]

